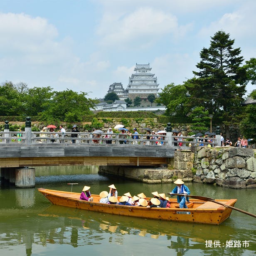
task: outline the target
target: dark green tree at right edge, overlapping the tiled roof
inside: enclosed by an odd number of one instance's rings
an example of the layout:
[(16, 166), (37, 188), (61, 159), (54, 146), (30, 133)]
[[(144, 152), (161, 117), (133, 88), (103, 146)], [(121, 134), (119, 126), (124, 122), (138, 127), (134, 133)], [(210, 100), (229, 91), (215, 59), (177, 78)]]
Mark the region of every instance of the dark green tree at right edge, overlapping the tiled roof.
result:
[[(256, 100), (256, 90), (252, 91), (249, 97)], [(253, 139), (254, 143), (256, 142), (256, 104), (244, 106), (244, 117), (239, 127), (247, 139)]]

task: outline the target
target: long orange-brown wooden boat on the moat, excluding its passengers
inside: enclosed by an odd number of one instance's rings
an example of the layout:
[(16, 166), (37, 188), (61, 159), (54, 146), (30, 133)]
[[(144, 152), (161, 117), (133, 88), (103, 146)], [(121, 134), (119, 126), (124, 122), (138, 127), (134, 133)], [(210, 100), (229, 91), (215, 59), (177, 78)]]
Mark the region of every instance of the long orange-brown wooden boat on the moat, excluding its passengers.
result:
[[(92, 194), (93, 202), (80, 200), (80, 193), (66, 192), (59, 190), (48, 190), (39, 188), (41, 192), (52, 204), (89, 210), (94, 212), (104, 212), (130, 217), (140, 217), (144, 219), (163, 219), (175, 222), (191, 222), (202, 224), (219, 225), (229, 218), (232, 209), (198, 199), (190, 199), (188, 208), (180, 209), (177, 199), (171, 199), (171, 208), (146, 208), (137, 206), (124, 206), (118, 204), (103, 204), (99, 202), (99, 195)], [(120, 197), (118, 197), (120, 198)], [(148, 198), (149, 200), (149, 198)], [(236, 199), (217, 199), (217, 202), (233, 207)]]

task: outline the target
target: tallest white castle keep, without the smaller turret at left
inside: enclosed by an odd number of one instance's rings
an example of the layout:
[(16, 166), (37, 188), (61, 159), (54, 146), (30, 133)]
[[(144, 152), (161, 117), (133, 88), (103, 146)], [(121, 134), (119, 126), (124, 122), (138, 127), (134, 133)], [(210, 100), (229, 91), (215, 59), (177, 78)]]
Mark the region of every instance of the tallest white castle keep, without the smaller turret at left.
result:
[(148, 64), (137, 64), (135, 66), (135, 73), (129, 77), (129, 84), (127, 86), (128, 97), (134, 99), (139, 96), (146, 99), (149, 94), (155, 94), (159, 90), (158, 79), (154, 77), (155, 74), (150, 73), (152, 68)]

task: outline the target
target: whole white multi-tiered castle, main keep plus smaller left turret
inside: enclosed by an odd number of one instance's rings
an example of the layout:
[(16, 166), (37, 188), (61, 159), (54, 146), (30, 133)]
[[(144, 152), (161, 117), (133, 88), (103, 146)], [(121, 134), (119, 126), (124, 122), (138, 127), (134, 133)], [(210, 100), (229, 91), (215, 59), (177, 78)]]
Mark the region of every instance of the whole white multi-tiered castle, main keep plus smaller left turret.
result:
[(137, 96), (141, 99), (146, 99), (149, 94), (155, 94), (159, 90), (158, 79), (155, 74), (150, 73), (152, 68), (148, 64), (137, 64), (135, 66), (135, 73), (129, 77), (129, 83), (126, 89), (123, 89), (121, 83), (113, 83), (109, 86), (109, 92), (115, 92), (119, 99), (130, 98), (133, 100)]

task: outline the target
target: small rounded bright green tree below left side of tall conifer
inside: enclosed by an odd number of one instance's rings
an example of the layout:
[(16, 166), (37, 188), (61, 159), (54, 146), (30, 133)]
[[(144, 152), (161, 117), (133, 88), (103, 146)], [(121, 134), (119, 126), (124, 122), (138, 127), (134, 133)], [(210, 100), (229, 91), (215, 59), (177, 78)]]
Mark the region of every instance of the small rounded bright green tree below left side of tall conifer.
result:
[(204, 133), (206, 130), (209, 129), (209, 113), (207, 110), (204, 109), (204, 107), (196, 107), (192, 110), (190, 113), (190, 117), (192, 118), (192, 125), (190, 128), (195, 132), (195, 133)]

